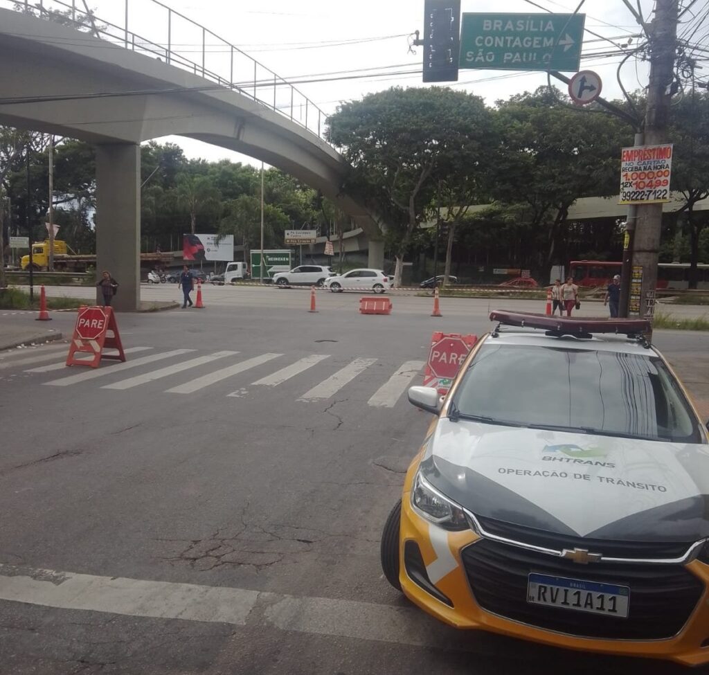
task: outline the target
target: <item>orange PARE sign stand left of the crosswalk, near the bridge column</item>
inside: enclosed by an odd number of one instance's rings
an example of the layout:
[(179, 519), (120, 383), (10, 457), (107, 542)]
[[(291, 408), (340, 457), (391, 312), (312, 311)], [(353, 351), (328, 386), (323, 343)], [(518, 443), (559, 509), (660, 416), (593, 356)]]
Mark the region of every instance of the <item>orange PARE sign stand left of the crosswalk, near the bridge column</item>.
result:
[[(104, 349), (118, 350), (118, 354), (104, 354)], [(79, 354), (91, 354), (93, 358), (78, 359)], [(116, 315), (110, 307), (81, 307), (69, 345), (67, 366), (98, 368), (101, 359), (125, 361)]]

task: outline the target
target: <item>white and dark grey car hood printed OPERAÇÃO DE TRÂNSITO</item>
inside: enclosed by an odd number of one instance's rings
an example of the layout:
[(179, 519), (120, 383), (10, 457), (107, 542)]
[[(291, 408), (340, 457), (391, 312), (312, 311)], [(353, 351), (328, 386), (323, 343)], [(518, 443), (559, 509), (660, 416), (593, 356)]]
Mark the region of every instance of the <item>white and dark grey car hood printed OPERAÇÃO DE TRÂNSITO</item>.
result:
[(635, 541), (709, 536), (709, 446), (511, 428), (441, 418), (420, 464), (481, 515)]

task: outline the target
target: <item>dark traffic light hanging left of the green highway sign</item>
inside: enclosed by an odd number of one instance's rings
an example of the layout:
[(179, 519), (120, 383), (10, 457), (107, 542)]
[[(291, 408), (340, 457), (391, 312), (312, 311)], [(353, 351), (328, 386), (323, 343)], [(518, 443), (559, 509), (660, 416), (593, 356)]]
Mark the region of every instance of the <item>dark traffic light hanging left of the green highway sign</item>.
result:
[(424, 0), (423, 82), (457, 82), (460, 0)]

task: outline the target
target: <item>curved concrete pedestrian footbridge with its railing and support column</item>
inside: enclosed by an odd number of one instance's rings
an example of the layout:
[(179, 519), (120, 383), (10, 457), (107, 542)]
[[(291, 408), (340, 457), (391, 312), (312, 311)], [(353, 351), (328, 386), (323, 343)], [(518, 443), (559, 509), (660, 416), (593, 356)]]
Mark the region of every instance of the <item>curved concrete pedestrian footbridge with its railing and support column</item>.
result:
[[(166, 135), (241, 152), (322, 191), (367, 234), (369, 266), (383, 267), (379, 225), (340, 194), (348, 165), (323, 138), (323, 111), (157, 0), (130, 7), (143, 11), (141, 25), (145, 12), (160, 11), (160, 42), (129, 30), (128, 1), (115, 5), (125, 6), (124, 20), (102, 21), (78, 0), (0, 0), (0, 123), (96, 146), (97, 263), (121, 280), (119, 309), (140, 300), (140, 143)], [(174, 48), (187, 28), (201, 53)]]

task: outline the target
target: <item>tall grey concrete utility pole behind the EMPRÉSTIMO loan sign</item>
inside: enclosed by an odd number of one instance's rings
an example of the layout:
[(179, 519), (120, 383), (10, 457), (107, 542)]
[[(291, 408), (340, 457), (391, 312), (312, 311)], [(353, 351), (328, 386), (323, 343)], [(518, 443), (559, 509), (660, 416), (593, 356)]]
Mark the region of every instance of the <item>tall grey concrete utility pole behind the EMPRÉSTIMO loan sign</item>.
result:
[[(671, 85), (677, 43), (679, 0), (657, 0), (650, 24), (650, 73), (645, 111), (644, 144), (667, 143)], [(657, 288), (657, 259), (662, 226), (662, 204), (639, 204), (632, 247), (632, 264), (642, 267), (640, 317), (652, 318)]]

